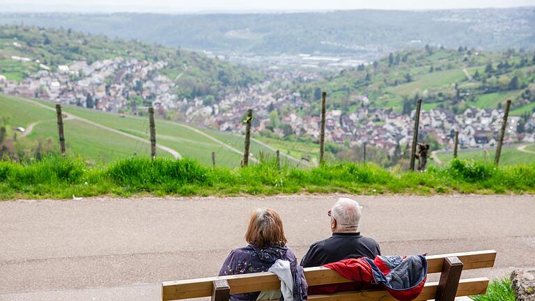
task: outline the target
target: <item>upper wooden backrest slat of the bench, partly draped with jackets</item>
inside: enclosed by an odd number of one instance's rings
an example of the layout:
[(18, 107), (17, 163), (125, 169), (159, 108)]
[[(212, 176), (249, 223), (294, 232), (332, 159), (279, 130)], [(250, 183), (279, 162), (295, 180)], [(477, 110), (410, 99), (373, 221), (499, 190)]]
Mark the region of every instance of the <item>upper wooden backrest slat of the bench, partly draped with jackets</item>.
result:
[[(496, 258), (496, 251), (488, 250), (426, 256), (428, 273), (440, 272), (444, 258), (452, 256), (457, 256), (463, 262), (463, 270), (492, 268)], [(338, 272), (323, 267), (305, 268), (304, 275), (307, 278), (309, 286), (337, 284), (349, 281), (341, 277)], [(271, 272), (167, 281), (162, 284), (162, 300), (208, 297), (212, 295), (212, 281), (216, 279), (226, 279), (228, 285), (231, 287), (231, 294), (279, 289), (281, 285), (279, 278)]]

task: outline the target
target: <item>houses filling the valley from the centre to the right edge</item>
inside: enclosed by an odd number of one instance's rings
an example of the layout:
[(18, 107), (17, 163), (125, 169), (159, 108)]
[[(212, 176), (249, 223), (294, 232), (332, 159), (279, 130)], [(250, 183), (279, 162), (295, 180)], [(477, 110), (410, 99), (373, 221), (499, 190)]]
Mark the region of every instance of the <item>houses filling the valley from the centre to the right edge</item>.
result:
[[(296, 78), (315, 80), (313, 75), (303, 74), (304, 71), (274, 72), (269, 80), (261, 84), (243, 88), (235, 93), (228, 93), (217, 105), (203, 106), (201, 101), (181, 102), (187, 120), (203, 123), (205, 126), (216, 127), (222, 131), (243, 132), (245, 123), (242, 119), (247, 109), (255, 114), (252, 130), (261, 134), (265, 130), (273, 131), (284, 138), (288, 134), (295, 137), (319, 138), (320, 116), (303, 116), (303, 110), (311, 106), (297, 91), (278, 88), (270, 89), (274, 80), (284, 79), (293, 82)], [(305, 72), (306, 73), (306, 72)], [(281, 85), (277, 85), (281, 87)], [(414, 129), (414, 111), (411, 116), (391, 109), (378, 109), (370, 105), (369, 99), (359, 97), (362, 106), (355, 111), (343, 112), (331, 110), (326, 112), (325, 135), (327, 141), (337, 144), (377, 146), (393, 154), (399, 145), (405, 147), (412, 141)], [(288, 109), (290, 108), (290, 109)], [(273, 128), (271, 112), (279, 112), (279, 124), (286, 124), (286, 129)], [(285, 112), (285, 114), (280, 114)], [(497, 143), (502, 127), (503, 109), (469, 108), (461, 114), (453, 114), (447, 109), (431, 109), (422, 111), (420, 116), (419, 136), (434, 139), (442, 147), (453, 147), (455, 132), (459, 132), (459, 144), (463, 148), (494, 146)], [(199, 118), (200, 117), (200, 118)], [(518, 141), (534, 142), (535, 131), (517, 135), (520, 117), (509, 116), (506, 127), (505, 143)], [(288, 133), (288, 125), (291, 132)], [(531, 116), (528, 128), (535, 129), (535, 114)]]

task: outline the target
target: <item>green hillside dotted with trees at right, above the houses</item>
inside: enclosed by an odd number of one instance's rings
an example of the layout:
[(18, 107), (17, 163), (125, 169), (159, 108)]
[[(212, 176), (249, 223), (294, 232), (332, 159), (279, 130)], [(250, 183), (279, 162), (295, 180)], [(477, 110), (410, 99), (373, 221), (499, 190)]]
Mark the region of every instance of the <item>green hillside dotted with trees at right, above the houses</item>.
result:
[[(369, 65), (342, 70), (323, 81), (298, 84), (319, 111), (319, 90), (329, 91), (327, 105), (352, 111), (362, 95), (379, 108), (410, 113), (421, 98), (424, 109), (444, 107), (454, 113), (467, 107), (495, 108), (513, 100), (512, 114), (535, 107), (535, 52), (482, 52), (428, 47), (391, 53)], [(319, 90), (318, 90), (319, 89)]]

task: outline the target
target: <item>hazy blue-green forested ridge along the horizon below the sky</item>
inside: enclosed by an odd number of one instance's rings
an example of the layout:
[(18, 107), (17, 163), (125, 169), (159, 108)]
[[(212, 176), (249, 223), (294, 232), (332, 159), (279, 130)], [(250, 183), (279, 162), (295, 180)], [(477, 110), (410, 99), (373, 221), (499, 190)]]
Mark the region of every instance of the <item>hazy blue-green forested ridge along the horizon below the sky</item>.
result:
[(242, 54), (349, 54), (363, 59), (424, 45), (535, 48), (535, 6), (269, 14), (3, 13), (4, 24), (72, 28), (151, 43)]

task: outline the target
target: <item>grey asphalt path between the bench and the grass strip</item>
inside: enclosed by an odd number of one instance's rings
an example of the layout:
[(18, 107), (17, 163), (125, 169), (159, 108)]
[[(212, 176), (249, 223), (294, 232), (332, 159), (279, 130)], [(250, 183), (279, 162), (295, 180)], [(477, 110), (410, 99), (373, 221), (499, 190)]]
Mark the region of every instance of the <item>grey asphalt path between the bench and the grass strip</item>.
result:
[[(216, 275), (261, 206), (301, 258), (340, 196), (0, 201), (0, 300), (158, 300), (162, 281)], [(383, 254), (497, 250), (495, 268), (463, 277), (535, 268), (535, 196), (354, 198)]]

